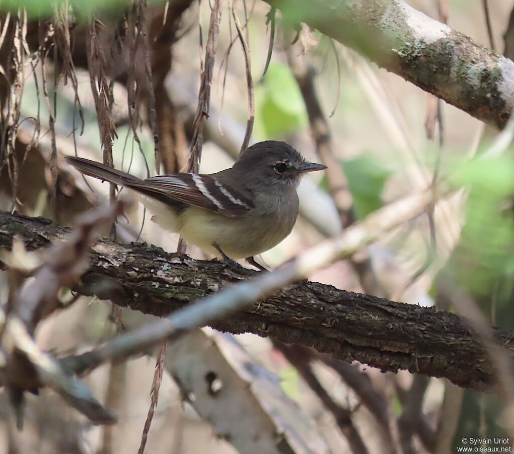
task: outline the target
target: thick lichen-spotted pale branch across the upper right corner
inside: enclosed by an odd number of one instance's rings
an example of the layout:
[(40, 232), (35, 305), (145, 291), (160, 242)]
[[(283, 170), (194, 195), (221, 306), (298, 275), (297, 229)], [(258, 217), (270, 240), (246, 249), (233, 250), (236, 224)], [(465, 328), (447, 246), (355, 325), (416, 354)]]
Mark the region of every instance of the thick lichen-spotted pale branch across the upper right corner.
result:
[(514, 63), (401, 0), (265, 0), (486, 123), (514, 106)]

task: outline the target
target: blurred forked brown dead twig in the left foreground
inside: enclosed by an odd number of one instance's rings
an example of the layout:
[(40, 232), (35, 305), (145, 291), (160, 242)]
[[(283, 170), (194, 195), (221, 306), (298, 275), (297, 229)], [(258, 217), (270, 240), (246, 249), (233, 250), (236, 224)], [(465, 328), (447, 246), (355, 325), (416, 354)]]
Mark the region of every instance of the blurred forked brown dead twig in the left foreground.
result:
[[(4, 357), (0, 377), (7, 386), (17, 409), (18, 425), (25, 391), (37, 392), (48, 386), (65, 401), (96, 423), (114, 423), (116, 417), (104, 409), (86, 385), (66, 374), (59, 361), (43, 353), (31, 337), (36, 325), (60, 306), (59, 290), (74, 285), (89, 266), (89, 250), (95, 233), (113, 222), (126, 202), (111, 207), (100, 206), (78, 216), (78, 227), (67, 241), (54, 245), (47, 260), (35, 268), (33, 280), (25, 282), (0, 311), (0, 352)], [(19, 253), (13, 249), (11, 256)], [(3, 253), (2, 259), (16, 263), (15, 257)], [(11, 259), (11, 260), (10, 260)]]

